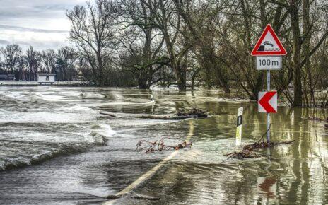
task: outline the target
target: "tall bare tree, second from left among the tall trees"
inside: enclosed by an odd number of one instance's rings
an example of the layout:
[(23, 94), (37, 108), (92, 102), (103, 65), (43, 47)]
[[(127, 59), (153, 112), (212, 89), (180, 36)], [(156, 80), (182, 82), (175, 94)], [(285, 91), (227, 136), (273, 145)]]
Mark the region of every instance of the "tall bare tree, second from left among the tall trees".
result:
[(157, 15), (157, 8), (151, 4), (151, 0), (122, 0), (120, 5), (122, 23), (127, 24), (120, 42), (129, 52), (129, 59), (123, 66), (136, 76), (139, 88), (150, 88), (153, 83), (163, 79), (163, 76), (154, 77), (167, 64), (167, 59), (160, 53), (163, 35), (151, 25)]

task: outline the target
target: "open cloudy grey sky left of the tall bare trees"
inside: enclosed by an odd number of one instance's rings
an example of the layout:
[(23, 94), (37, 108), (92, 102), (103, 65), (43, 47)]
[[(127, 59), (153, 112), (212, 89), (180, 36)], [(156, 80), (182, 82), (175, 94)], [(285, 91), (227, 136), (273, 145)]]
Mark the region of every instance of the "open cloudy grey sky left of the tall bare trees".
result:
[(0, 0), (0, 47), (16, 43), (25, 50), (69, 45), (66, 9), (86, 0)]

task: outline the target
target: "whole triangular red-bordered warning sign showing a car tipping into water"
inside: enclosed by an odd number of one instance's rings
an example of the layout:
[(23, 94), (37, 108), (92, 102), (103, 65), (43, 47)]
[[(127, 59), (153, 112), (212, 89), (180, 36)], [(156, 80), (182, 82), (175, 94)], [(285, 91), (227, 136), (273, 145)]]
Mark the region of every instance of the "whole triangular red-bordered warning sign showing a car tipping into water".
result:
[(270, 24), (266, 25), (261, 37), (257, 41), (252, 56), (266, 56), (266, 55), (286, 55), (286, 49), (281, 44), (278, 36)]

